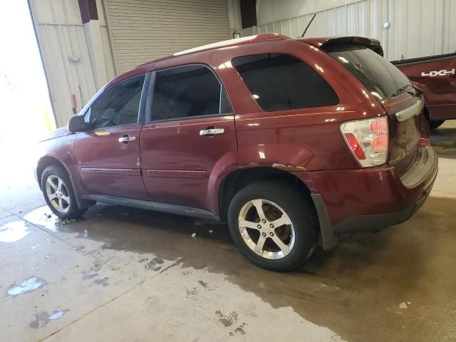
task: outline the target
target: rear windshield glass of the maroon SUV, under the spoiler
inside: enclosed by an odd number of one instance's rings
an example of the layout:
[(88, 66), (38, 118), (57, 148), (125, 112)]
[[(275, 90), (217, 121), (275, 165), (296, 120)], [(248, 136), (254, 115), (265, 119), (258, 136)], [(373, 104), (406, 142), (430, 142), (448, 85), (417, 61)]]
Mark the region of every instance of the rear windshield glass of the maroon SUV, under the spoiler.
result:
[(376, 98), (397, 95), (411, 84), (398, 68), (366, 46), (334, 44), (323, 49), (363, 82)]

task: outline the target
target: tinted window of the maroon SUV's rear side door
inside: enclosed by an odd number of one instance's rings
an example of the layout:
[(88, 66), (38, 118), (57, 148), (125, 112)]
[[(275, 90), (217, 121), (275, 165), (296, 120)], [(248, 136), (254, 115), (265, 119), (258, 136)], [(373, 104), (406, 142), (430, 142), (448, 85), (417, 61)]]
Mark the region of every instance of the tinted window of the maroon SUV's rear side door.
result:
[(232, 109), (224, 89), (209, 68), (182, 66), (157, 71), (152, 96), (152, 120), (219, 113), (232, 113)]

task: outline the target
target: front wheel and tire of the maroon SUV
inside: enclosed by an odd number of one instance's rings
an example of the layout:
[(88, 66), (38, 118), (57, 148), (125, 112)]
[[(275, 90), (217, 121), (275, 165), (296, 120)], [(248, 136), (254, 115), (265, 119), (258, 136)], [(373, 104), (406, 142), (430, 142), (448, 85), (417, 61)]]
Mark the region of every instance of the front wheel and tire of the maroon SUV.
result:
[(76, 219), (87, 211), (87, 208), (78, 208), (68, 172), (59, 165), (44, 169), (41, 191), (48, 207), (61, 219)]

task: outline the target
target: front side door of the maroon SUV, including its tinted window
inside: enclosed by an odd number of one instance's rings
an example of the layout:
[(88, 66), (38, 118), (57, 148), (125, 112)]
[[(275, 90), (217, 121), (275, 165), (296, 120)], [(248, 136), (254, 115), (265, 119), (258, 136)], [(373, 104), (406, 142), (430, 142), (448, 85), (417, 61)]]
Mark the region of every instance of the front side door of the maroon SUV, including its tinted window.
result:
[(149, 199), (140, 171), (139, 108), (145, 76), (105, 90), (86, 113), (90, 130), (75, 142), (79, 174), (90, 194)]

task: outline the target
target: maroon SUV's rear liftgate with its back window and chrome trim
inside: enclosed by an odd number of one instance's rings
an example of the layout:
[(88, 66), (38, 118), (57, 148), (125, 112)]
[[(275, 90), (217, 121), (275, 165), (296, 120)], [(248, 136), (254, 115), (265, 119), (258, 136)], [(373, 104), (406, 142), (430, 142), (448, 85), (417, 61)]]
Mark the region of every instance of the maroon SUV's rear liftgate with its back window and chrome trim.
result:
[(423, 120), (423, 95), (385, 58), (358, 44), (323, 49), (358, 78), (388, 113), (388, 163), (407, 168), (416, 155)]

